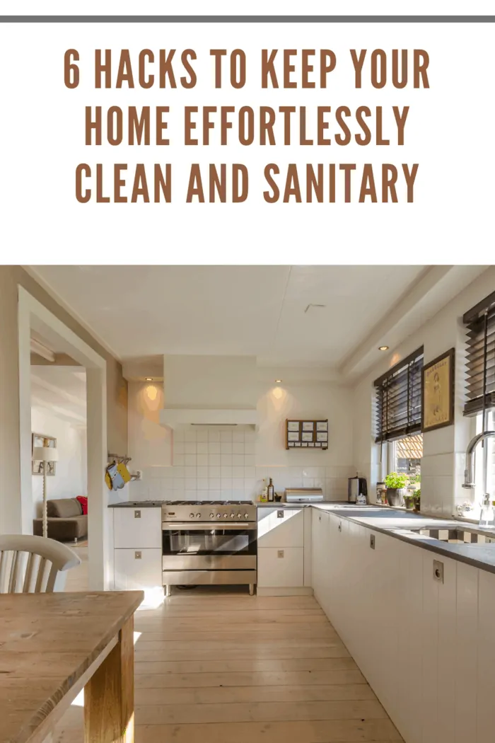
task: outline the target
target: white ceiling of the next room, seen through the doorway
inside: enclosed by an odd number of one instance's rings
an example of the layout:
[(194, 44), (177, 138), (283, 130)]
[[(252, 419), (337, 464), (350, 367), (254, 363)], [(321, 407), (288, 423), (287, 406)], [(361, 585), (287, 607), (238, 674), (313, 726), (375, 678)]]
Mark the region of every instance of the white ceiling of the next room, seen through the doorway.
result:
[(77, 426), (86, 425), (86, 371), (71, 366), (31, 366), (31, 405)]

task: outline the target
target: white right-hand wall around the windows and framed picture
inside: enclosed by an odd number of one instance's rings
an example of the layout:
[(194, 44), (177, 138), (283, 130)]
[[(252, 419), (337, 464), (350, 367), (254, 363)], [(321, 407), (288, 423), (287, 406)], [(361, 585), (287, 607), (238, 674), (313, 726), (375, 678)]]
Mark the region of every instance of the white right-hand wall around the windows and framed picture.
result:
[[(384, 371), (424, 346), (424, 361), (456, 348), (456, 394), (455, 424), (424, 434), (422, 458), (422, 510), (437, 516), (451, 516), (456, 505), (473, 497), (470, 490), (462, 489), (465, 469), (465, 449), (473, 435), (473, 421), (462, 415), (465, 401), (465, 330), (462, 315), (473, 305), (494, 291), (495, 267), (485, 270), (448, 305), (411, 334), (404, 343), (394, 349), (393, 354), (376, 366), (353, 389), (353, 441), (354, 460), (360, 472), (374, 485), (381, 478), (379, 471), (379, 447), (373, 443), (373, 380)], [(377, 351), (378, 354), (378, 351)]]

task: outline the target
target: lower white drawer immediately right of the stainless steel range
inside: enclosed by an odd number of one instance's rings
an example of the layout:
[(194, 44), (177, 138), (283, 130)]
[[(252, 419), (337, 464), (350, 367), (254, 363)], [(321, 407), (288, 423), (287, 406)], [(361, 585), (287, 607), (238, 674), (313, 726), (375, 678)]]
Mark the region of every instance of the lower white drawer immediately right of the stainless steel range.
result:
[(261, 588), (304, 586), (304, 547), (258, 547)]

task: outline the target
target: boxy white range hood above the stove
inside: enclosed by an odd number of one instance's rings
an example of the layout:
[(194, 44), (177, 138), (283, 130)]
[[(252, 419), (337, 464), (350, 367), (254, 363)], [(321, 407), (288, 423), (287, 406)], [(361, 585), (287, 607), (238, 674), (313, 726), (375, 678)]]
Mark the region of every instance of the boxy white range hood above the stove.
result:
[(160, 424), (258, 425), (255, 357), (165, 356)]

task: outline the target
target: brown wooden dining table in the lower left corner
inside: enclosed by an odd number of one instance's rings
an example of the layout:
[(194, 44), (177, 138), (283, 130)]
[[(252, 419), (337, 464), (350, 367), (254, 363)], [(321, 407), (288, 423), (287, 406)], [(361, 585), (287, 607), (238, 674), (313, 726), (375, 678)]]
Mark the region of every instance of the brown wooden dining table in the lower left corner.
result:
[(42, 743), (85, 689), (85, 743), (134, 741), (142, 591), (0, 596), (0, 743)]

